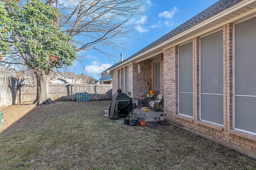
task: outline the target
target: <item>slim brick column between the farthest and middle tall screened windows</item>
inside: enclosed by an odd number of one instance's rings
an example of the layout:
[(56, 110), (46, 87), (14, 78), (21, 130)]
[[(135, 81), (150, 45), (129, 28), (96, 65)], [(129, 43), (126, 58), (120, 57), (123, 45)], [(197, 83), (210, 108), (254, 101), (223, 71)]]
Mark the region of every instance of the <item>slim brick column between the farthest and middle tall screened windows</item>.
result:
[(200, 51), (200, 38), (193, 38), (193, 119), (200, 120), (200, 105), (199, 105), (199, 73), (200, 73), (200, 63), (199, 63), (199, 51)]

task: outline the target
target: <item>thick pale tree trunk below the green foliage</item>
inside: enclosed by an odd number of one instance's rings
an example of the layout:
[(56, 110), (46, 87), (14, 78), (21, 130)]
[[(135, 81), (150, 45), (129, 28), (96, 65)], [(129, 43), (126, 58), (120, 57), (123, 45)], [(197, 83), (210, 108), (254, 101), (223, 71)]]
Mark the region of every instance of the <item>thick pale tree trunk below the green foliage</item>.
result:
[(42, 104), (55, 103), (50, 99), (50, 95), (49, 95), (50, 76), (53, 72), (53, 69), (49, 70), (48, 72), (44, 72), (44, 71), (34, 72), (36, 75), (37, 92), (36, 92), (36, 100), (33, 102), (33, 104), (36, 106), (39, 106)]

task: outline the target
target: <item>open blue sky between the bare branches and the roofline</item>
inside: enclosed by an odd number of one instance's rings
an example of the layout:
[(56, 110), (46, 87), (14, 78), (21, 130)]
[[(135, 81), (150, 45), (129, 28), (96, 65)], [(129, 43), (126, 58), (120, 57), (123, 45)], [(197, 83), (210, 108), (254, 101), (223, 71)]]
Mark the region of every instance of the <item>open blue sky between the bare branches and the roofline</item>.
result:
[(114, 54), (115, 57), (111, 57), (111, 59), (96, 51), (84, 52), (89, 58), (82, 64), (74, 64), (76, 67), (75, 73), (81, 74), (83, 67), (85, 67), (86, 74), (96, 79), (100, 78), (93, 72), (101, 72), (120, 61), (121, 53), (124, 54), (124, 59), (130, 57), (217, 1), (145, 0), (149, 8), (145, 9), (144, 15), (133, 21), (136, 27), (134, 27), (134, 32), (130, 36), (136, 39), (127, 39), (126, 49), (112, 50), (104, 48), (108, 53)]

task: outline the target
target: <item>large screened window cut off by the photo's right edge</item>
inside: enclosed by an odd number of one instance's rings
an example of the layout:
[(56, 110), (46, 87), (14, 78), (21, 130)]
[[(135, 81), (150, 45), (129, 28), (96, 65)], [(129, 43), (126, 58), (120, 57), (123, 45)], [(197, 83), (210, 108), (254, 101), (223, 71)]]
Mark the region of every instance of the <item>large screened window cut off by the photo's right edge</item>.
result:
[(256, 17), (234, 26), (234, 127), (256, 134)]

